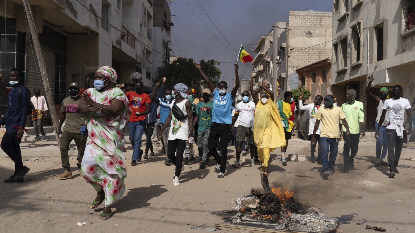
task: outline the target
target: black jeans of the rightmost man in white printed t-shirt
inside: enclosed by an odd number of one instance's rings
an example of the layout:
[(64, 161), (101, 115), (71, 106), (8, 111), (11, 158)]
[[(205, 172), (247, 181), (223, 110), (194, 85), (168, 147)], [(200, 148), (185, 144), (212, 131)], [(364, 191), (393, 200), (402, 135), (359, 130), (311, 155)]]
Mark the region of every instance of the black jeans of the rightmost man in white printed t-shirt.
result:
[[(405, 138), (406, 132), (403, 131), (403, 137), (400, 138), (394, 129), (386, 129), (388, 134), (388, 162), (389, 169), (393, 171), (393, 168), (398, 167), (398, 162), (400, 158), (400, 152), (402, 151), (403, 139)], [(395, 148), (395, 154), (393, 154), (393, 149)]]

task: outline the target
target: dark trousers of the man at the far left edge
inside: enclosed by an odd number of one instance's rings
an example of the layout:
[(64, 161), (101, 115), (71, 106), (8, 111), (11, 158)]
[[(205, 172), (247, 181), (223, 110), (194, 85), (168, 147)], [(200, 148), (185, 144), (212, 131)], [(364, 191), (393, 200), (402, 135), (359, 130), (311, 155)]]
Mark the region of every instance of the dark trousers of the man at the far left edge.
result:
[(6, 127), (6, 132), (0, 144), (4, 153), (15, 163), (15, 175), (24, 167), (22, 152), (20, 151), (20, 141), (22, 141), (22, 138), (17, 138), (16, 135), (17, 128)]

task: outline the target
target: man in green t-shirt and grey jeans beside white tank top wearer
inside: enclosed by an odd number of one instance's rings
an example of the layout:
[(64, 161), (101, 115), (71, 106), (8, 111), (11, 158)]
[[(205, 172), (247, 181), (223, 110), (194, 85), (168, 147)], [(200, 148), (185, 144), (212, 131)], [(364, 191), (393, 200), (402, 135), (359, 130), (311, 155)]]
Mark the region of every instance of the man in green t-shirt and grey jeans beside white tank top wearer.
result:
[(209, 138), (210, 126), (212, 125), (212, 109), (213, 102), (210, 100), (210, 90), (205, 89), (202, 93), (203, 101), (196, 105), (196, 117), (193, 124), (199, 123), (198, 128), (198, 149), (200, 156), (200, 169), (206, 168), (208, 161), (207, 154), (209, 149), (207, 148), (207, 139)]

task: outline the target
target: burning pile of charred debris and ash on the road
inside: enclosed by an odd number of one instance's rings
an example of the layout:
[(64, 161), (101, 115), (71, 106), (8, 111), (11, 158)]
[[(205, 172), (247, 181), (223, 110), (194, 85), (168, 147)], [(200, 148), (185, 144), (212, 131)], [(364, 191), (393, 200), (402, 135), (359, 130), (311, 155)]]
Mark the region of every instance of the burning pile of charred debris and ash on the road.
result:
[(270, 189), (268, 178), (261, 174), (264, 189), (251, 189), (251, 194), (237, 198), (239, 211), (230, 217), (232, 224), (264, 227), (283, 232), (336, 233), (339, 218), (328, 218), (317, 208), (295, 201), (294, 191), (286, 187)]

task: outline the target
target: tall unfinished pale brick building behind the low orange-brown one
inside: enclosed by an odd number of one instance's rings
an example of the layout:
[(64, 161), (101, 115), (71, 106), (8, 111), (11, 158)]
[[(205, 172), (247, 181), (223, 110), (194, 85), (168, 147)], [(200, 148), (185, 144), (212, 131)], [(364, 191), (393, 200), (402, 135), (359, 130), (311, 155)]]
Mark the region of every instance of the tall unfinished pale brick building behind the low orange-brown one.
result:
[(331, 57), (331, 45), (325, 42), (332, 39), (332, 12), (290, 11), (288, 23), (273, 27), (272, 76), (280, 99), (298, 87), (295, 70)]

